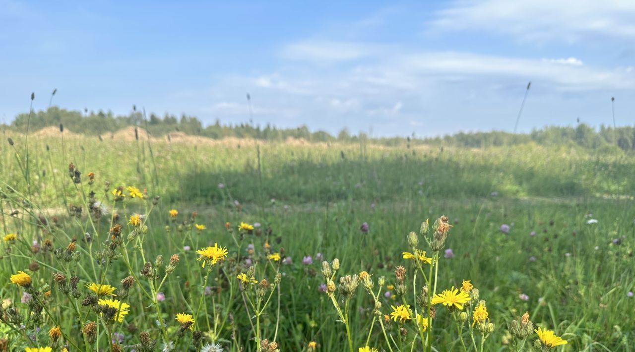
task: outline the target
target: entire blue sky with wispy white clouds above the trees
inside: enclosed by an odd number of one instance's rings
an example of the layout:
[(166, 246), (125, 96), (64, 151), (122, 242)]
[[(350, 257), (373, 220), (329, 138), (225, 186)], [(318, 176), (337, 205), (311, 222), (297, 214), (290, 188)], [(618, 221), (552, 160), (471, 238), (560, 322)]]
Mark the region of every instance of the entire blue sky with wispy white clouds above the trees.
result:
[(373, 136), (631, 124), (635, 2), (0, 0), (0, 119), (48, 106)]

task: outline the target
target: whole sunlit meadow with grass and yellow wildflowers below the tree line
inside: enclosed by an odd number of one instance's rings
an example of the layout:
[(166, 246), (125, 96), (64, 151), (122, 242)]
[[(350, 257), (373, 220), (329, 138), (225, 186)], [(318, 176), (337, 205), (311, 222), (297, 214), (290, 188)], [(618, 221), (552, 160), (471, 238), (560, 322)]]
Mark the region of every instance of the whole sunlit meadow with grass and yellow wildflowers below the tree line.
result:
[[(4, 350), (551, 349), (528, 324), (554, 350), (635, 343), (631, 153), (3, 140)], [(434, 303), (452, 287), (464, 304)]]

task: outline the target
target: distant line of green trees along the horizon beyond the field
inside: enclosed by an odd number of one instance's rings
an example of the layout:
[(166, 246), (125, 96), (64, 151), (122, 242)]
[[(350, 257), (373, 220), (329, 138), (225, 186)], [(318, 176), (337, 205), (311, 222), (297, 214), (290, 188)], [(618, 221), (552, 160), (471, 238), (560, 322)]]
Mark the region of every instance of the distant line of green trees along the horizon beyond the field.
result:
[[(29, 114), (19, 114), (5, 128), (16, 131), (26, 131)], [(47, 110), (34, 112), (30, 116), (29, 130), (37, 131), (44, 127), (64, 125), (74, 133), (82, 134), (106, 134), (114, 133), (128, 126), (137, 126), (150, 132), (154, 136), (163, 136), (167, 133), (180, 131), (186, 134), (205, 136), (208, 138), (255, 138), (267, 141), (283, 141), (287, 138), (302, 138), (312, 142), (346, 141), (378, 143), (382, 145), (437, 145), (467, 148), (504, 147), (525, 143), (537, 143), (539, 145), (569, 145), (583, 148), (620, 148), (624, 151), (635, 150), (635, 127), (622, 126), (613, 129), (608, 126), (600, 126), (594, 129), (587, 124), (577, 126), (546, 126), (534, 129), (530, 133), (513, 134), (505, 131), (490, 132), (460, 132), (432, 138), (392, 137), (369, 138), (367, 134), (351, 134), (347, 129), (342, 129), (337, 136), (325, 131), (310, 131), (307, 126), (297, 128), (279, 128), (267, 124), (264, 127), (251, 124), (221, 124), (216, 121), (209, 126), (194, 116), (165, 114), (159, 117), (155, 114), (144, 114), (136, 109), (128, 115), (114, 115), (112, 112), (88, 112), (77, 110), (65, 110), (58, 107), (50, 107)]]

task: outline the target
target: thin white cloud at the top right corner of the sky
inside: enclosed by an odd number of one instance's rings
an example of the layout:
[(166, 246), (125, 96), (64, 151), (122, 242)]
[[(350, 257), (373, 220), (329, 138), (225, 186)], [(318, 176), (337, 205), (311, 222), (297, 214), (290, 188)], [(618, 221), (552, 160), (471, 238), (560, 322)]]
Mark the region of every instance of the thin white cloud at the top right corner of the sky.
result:
[(578, 42), (589, 35), (635, 40), (635, 1), (454, 1), (436, 15), (433, 30), (481, 29), (537, 42)]

